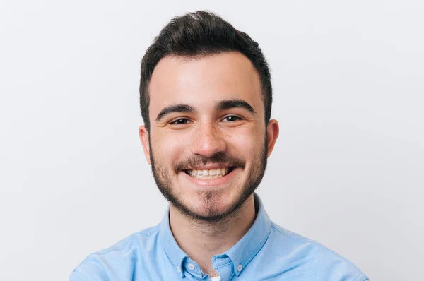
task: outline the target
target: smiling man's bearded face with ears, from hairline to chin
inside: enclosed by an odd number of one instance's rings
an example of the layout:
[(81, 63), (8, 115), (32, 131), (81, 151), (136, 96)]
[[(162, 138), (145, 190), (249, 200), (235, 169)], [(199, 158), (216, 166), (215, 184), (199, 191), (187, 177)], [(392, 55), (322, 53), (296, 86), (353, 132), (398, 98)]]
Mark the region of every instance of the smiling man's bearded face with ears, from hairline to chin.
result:
[(143, 148), (158, 188), (185, 215), (215, 221), (259, 185), (278, 136), (266, 128), (259, 75), (238, 52), (160, 60)]

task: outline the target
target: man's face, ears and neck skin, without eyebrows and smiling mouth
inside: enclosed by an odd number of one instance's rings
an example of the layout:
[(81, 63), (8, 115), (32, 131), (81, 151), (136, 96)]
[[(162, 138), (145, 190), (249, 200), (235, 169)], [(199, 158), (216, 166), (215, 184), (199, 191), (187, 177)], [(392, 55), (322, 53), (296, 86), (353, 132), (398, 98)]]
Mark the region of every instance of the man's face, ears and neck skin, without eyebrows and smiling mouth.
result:
[[(239, 52), (167, 56), (148, 90), (151, 129), (140, 126), (139, 135), (158, 187), (170, 193), (172, 234), (204, 273), (216, 276), (211, 258), (230, 249), (254, 222), (252, 192), (278, 138), (278, 122), (266, 126), (259, 75)], [(223, 101), (245, 102), (253, 112), (219, 107)], [(176, 104), (190, 109), (161, 114)], [(236, 167), (220, 179), (194, 179), (182, 170), (225, 165)]]

